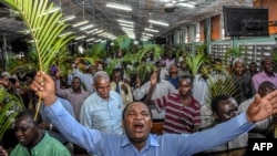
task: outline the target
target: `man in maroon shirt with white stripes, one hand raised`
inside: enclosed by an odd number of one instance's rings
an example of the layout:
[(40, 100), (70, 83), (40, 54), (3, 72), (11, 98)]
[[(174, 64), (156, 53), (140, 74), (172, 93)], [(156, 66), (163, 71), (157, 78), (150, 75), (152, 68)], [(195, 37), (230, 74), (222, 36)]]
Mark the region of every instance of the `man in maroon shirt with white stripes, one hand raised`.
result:
[(168, 94), (151, 100), (156, 79), (151, 80), (150, 93), (145, 103), (156, 105), (157, 110), (165, 108), (163, 133), (193, 133), (201, 125), (201, 105), (192, 96), (193, 77), (184, 75), (179, 79), (178, 93)]

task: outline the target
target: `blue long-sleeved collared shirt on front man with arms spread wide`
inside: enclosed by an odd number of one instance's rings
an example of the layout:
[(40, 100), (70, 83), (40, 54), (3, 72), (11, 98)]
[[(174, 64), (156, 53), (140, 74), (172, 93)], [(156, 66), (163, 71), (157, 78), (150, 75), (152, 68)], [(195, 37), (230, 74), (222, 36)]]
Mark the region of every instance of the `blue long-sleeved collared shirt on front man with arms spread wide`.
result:
[(192, 156), (227, 143), (254, 127), (253, 123), (247, 122), (246, 113), (242, 113), (228, 122), (199, 133), (150, 134), (146, 145), (137, 150), (126, 135), (111, 135), (81, 126), (64, 111), (59, 100), (45, 107), (45, 111), (70, 142), (99, 156)]

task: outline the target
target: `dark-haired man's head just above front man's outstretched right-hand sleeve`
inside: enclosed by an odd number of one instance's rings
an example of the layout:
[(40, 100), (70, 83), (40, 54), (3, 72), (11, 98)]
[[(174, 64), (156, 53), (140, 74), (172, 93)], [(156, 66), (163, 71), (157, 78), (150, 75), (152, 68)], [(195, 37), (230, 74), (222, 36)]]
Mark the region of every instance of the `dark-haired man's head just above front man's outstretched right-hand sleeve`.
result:
[(220, 94), (212, 100), (212, 111), (215, 119), (223, 123), (238, 114), (238, 105), (234, 97)]

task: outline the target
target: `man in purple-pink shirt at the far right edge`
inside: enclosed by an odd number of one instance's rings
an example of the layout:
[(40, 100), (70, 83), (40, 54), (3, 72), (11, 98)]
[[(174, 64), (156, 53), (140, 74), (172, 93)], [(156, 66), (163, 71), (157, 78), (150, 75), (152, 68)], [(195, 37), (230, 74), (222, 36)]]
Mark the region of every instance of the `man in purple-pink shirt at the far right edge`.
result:
[(253, 84), (255, 92), (258, 92), (258, 86), (264, 81), (269, 81), (274, 85), (277, 85), (277, 74), (274, 72), (274, 61), (273, 58), (267, 56), (261, 61), (263, 71), (253, 76)]

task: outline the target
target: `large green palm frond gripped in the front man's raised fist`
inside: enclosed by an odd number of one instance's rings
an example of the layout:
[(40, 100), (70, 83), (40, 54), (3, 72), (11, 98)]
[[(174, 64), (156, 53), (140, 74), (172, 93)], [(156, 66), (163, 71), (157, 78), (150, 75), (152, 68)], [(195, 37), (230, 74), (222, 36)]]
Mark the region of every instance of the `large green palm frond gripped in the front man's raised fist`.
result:
[[(59, 38), (68, 27), (63, 21), (60, 22), (62, 13), (60, 11), (49, 13), (53, 3), (49, 3), (48, 0), (2, 0), (2, 2), (16, 10), (30, 30), (38, 53), (39, 69), (48, 73), (55, 53), (73, 38), (69, 37), (70, 34)], [(40, 103), (41, 97), (34, 118), (40, 110)]]

